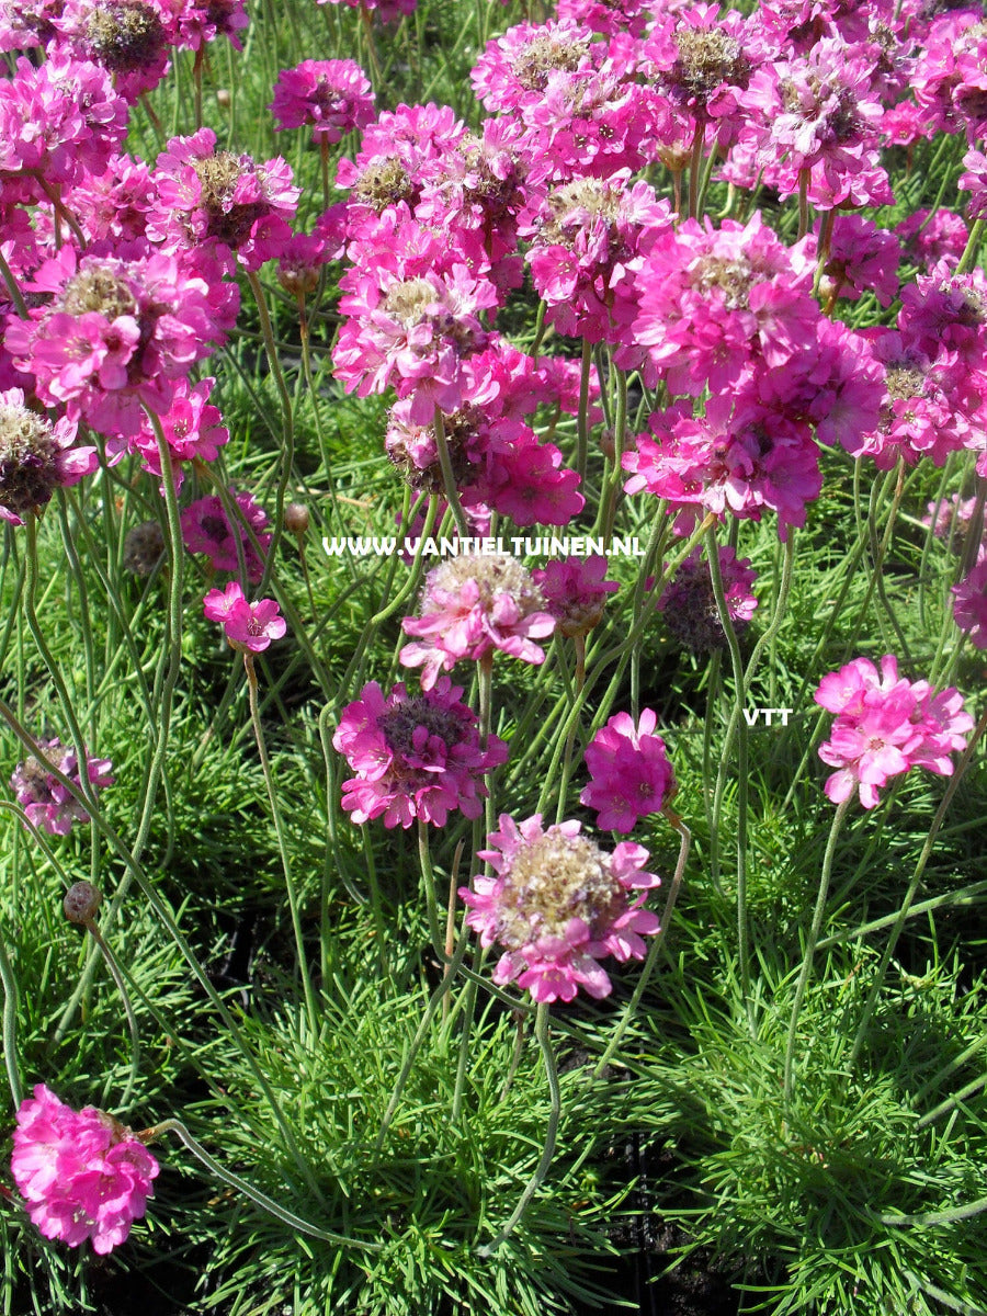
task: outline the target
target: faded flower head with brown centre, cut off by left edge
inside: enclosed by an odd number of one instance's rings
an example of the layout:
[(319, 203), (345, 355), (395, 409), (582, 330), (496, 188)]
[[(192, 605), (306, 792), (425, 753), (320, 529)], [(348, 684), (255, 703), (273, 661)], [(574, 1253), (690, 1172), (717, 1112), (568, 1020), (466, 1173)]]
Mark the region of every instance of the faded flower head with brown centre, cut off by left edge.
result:
[(72, 447), (75, 433), (64, 417), (51, 424), (28, 407), (22, 390), (0, 392), (0, 519), (21, 525), (55, 488), (96, 470), (96, 449)]

